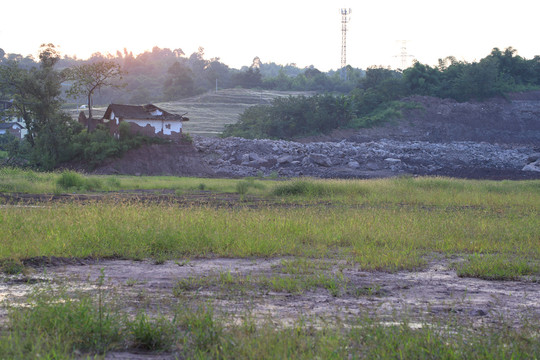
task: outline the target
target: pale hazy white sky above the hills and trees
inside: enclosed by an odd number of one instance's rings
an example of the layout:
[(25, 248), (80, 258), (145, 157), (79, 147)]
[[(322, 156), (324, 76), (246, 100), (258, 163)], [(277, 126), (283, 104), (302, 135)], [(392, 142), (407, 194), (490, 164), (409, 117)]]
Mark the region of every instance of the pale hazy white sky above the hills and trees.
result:
[(199, 46), (227, 65), (262, 62), (337, 69), (341, 15), (352, 8), (347, 63), (397, 67), (401, 43), (420, 62), (449, 55), (479, 60), (493, 47), (540, 55), (538, 0), (10, 0), (2, 3), (0, 48), (36, 54), (54, 43), (67, 55), (153, 46)]

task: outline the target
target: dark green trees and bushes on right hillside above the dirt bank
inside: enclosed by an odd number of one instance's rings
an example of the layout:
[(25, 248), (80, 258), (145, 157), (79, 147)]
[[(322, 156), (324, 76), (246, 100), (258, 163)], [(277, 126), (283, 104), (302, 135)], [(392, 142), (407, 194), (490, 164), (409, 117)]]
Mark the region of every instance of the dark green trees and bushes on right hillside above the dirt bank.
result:
[(478, 62), (447, 57), (435, 67), (419, 62), (403, 72), (370, 67), (365, 76), (353, 78), (355, 87), (346, 95), (289, 97), (249, 108), (223, 136), (291, 139), (399, 118), (404, 107), (415, 106), (399, 101), (410, 95), (468, 101), (537, 89), (540, 56), (527, 60), (511, 47), (504, 51), (494, 48)]

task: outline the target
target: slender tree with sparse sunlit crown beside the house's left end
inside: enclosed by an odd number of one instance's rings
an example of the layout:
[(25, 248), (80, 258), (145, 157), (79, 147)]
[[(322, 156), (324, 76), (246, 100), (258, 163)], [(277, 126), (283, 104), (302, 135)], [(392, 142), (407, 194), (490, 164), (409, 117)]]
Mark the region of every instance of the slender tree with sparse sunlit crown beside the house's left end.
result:
[(122, 80), (124, 72), (114, 61), (100, 60), (90, 64), (75, 66), (66, 71), (66, 77), (73, 81), (68, 94), (72, 97), (85, 95), (88, 99), (88, 117), (92, 118), (92, 96), (96, 90), (111, 86), (121, 88), (117, 80)]

